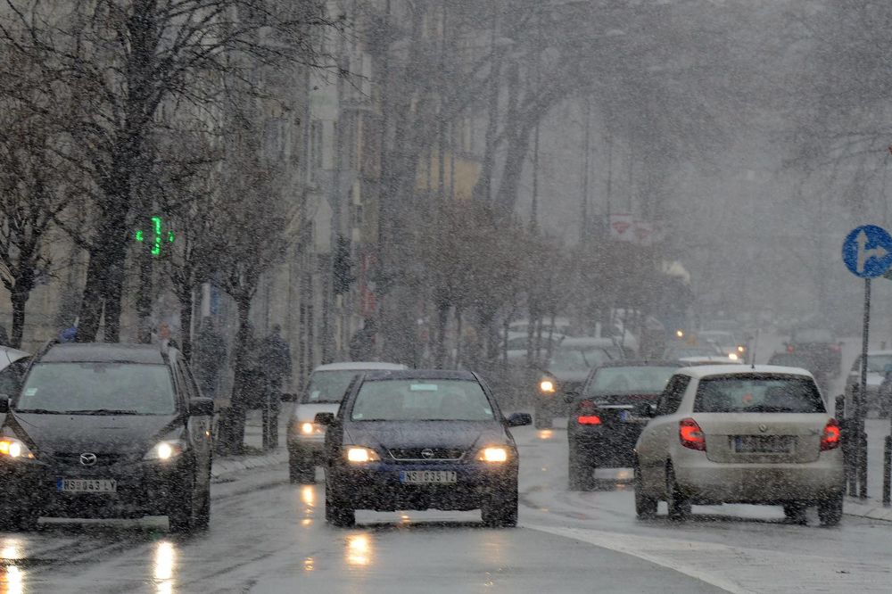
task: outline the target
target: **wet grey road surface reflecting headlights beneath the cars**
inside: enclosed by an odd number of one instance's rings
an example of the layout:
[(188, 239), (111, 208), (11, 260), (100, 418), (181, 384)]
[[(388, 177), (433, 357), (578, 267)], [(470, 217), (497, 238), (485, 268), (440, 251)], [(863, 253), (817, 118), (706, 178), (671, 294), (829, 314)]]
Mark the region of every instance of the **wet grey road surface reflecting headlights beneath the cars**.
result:
[(640, 522), (625, 471), (600, 471), (599, 491), (567, 491), (566, 432), (515, 434), (516, 529), (485, 529), (470, 512), (359, 512), (355, 529), (333, 529), (322, 485), (285, 483), (281, 466), (214, 485), (211, 529), (191, 538), (163, 520), (0, 533), (0, 592), (892, 590), (892, 524), (801, 526), (747, 506)]

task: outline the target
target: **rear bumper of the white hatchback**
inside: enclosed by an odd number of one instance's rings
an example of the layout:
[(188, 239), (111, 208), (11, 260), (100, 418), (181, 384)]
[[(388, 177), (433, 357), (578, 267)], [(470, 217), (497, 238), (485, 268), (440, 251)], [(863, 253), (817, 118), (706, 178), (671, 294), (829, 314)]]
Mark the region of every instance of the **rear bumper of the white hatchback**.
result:
[(841, 450), (805, 464), (725, 464), (706, 460), (673, 466), (679, 488), (703, 503), (818, 501), (845, 488)]

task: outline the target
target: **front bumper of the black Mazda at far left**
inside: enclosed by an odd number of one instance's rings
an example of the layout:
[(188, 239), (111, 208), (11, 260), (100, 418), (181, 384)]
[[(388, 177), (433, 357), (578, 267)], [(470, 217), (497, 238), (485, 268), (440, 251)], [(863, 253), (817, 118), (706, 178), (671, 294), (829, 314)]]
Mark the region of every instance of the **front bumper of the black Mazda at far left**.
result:
[[(187, 458), (169, 463), (145, 461), (80, 469), (39, 463), (0, 464), (4, 499), (55, 517), (165, 516), (191, 489), (193, 462)], [(114, 493), (66, 493), (63, 479), (113, 480)]]

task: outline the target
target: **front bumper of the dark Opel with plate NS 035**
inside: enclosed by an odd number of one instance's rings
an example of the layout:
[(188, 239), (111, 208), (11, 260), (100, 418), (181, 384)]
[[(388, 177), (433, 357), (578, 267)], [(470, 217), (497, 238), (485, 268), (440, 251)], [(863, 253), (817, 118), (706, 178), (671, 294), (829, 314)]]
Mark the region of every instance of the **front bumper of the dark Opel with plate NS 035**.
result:
[[(455, 471), (450, 484), (406, 484), (401, 471)], [(326, 473), (339, 499), (354, 509), (460, 510), (483, 507), (493, 499), (507, 499), (517, 491), (517, 466), (392, 465), (376, 463), (363, 467), (339, 466)]]

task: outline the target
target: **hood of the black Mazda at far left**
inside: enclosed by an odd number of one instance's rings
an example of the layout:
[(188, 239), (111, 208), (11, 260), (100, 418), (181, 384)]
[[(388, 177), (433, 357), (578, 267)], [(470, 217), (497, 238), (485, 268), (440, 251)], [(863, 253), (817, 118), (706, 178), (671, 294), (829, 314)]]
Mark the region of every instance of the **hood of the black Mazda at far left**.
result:
[(45, 452), (146, 452), (177, 426), (178, 415), (41, 415), (17, 413), (6, 417), (12, 429), (29, 446)]

